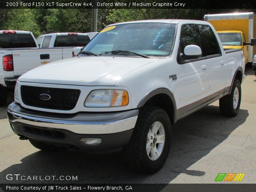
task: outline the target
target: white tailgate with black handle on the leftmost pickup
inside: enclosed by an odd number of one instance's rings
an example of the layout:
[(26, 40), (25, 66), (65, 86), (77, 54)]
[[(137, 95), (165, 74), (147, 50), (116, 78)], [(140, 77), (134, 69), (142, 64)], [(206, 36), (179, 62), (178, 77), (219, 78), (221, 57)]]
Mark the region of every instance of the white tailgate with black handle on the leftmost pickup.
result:
[(72, 57), (72, 48), (33, 48), (13, 50), (14, 75), (20, 76), (40, 65)]

